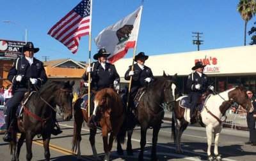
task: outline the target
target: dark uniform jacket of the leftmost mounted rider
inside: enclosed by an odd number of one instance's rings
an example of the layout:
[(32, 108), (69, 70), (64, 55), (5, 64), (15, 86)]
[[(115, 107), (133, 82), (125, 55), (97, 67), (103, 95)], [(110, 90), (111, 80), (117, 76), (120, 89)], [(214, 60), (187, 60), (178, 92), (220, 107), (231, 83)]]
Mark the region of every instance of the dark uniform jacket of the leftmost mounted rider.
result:
[[(22, 76), (20, 82), (16, 81), (16, 76), (18, 75)], [(24, 57), (15, 60), (7, 78), (12, 81), (13, 90), (27, 90), (30, 83), (29, 78), (36, 78), (36, 86), (38, 87), (47, 81), (43, 62), (33, 58), (33, 63), (30, 65)]]

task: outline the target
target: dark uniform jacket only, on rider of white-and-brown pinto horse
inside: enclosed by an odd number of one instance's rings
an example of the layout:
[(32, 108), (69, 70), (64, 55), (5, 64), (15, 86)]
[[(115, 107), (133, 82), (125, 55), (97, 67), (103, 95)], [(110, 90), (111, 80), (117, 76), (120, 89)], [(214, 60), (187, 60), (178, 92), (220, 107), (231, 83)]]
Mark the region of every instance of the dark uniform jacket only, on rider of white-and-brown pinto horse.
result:
[[(195, 88), (196, 84), (201, 85), (200, 90)], [(204, 73), (202, 73), (202, 76), (200, 76), (197, 72), (189, 74), (186, 85), (188, 92), (196, 92), (199, 94), (203, 94), (207, 90), (208, 86), (208, 78), (207, 75), (205, 75)]]

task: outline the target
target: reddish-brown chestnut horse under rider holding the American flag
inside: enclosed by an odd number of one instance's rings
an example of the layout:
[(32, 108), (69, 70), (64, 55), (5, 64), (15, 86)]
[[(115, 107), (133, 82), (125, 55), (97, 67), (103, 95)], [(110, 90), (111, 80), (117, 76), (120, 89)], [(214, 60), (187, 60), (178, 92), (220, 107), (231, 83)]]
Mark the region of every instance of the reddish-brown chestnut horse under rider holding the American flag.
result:
[[(72, 151), (77, 151), (77, 158), (81, 158), (81, 128), (83, 122), (89, 122), (88, 110), (81, 109), (82, 98), (74, 103), (74, 134), (72, 139)], [(118, 135), (122, 123), (124, 122), (125, 109), (122, 101), (115, 90), (112, 88), (103, 88), (95, 94), (94, 108), (97, 108), (96, 116), (99, 118), (99, 127), (102, 130), (102, 139), (104, 145), (104, 160), (108, 161), (112, 149), (114, 138)], [(101, 160), (95, 148), (96, 127), (90, 127), (90, 144), (92, 146), (93, 157)], [(108, 134), (109, 140), (108, 140)], [(120, 135), (119, 135), (120, 136)], [(125, 134), (122, 136), (124, 140)]]

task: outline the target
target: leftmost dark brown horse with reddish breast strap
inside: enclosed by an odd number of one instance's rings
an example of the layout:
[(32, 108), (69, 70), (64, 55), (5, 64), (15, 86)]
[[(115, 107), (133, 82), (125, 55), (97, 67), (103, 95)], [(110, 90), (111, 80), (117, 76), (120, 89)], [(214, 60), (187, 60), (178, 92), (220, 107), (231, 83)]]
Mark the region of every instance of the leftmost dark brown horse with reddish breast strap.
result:
[[(16, 128), (12, 130), (10, 149), (12, 160), (19, 160), (20, 148), (26, 139), (26, 160), (32, 158), (32, 141), (36, 135), (42, 135), (44, 141), (44, 157), (50, 160), (49, 142), (51, 130), (55, 124), (56, 105), (63, 112), (63, 119), (72, 118), (72, 86), (74, 81), (47, 81), (38, 91), (31, 92), (30, 97), (22, 100), (22, 117), (17, 117)], [(26, 99), (26, 102), (24, 102)], [(17, 143), (17, 133), (20, 138)]]

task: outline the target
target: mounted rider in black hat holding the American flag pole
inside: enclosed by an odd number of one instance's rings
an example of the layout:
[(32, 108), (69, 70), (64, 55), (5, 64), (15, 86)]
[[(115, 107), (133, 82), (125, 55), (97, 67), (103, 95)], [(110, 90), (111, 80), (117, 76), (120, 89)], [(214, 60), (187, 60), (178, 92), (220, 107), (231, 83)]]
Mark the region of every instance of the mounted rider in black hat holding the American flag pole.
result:
[[(97, 60), (93, 62), (90, 67), (86, 68), (86, 72), (83, 74), (83, 80), (88, 81), (88, 73), (91, 73), (91, 87), (94, 92), (97, 92), (103, 88), (114, 88), (120, 82), (120, 76), (116, 71), (116, 67), (113, 64), (107, 62), (107, 58), (110, 53), (105, 48), (100, 48), (99, 52), (93, 55), (93, 59)], [(93, 107), (92, 93), (90, 107)], [(92, 110), (90, 110), (92, 111)], [(95, 123), (96, 108), (93, 110), (91, 121)]]

